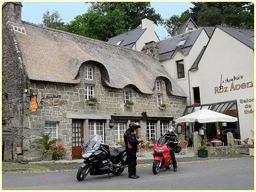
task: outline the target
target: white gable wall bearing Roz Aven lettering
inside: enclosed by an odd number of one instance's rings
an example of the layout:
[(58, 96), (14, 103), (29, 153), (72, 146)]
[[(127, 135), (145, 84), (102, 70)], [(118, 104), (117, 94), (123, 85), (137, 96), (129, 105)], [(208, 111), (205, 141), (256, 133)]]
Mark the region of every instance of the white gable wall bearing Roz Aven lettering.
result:
[[(242, 75), (243, 78), (235, 80), (231, 89), (231, 82), (222, 83), (225, 92), (218, 93), (214, 87), (220, 86), (221, 81)], [(211, 41), (199, 63), (199, 70), (191, 73), (192, 86), (200, 87), (201, 104), (211, 104), (228, 100), (237, 100), (238, 115), (240, 120), (241, 139), (252, 138), (250, 129), (253, 130), (253, 114), (245, 114), (246, 104), (254, 111), (254, 102), (241, 104), (240, 100), (253, 99), (253, 50), (243, 45), (221, 29), (216, 28)], [(245, 84), (243, 84), (245, 83)], [(253, 82), (254, 83), (254, 82)], [(244, 88), (248, 87), (248, 88)], [(248, 107), (248, 106), (247, 106)]]

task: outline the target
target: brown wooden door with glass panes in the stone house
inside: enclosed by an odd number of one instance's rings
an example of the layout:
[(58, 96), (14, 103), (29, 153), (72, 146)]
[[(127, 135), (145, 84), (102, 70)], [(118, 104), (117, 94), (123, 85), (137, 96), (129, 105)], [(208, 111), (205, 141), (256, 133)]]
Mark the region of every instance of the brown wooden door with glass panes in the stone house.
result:
[(82, 158), (82, 144), (84, 141), (83, 120), (72, 121), (72, 159)]

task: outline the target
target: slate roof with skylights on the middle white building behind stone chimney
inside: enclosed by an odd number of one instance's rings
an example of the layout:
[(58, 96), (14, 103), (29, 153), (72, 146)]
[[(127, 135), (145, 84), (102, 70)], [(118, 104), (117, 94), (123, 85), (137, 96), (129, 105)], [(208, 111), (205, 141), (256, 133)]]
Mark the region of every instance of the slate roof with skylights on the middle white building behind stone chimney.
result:
[(177, 51), (177, 44), (182, 41), (186, 40), (185, 44), (180, 48), (180, 51), (182, 51), (184, 54), (188, 54), (191, 50), (192, 46), (194, 45), (195, 41), (197, 40), (198, 36), (201, 34), (203, 28), (195, 29), (193, 31), (190, 31), (188, 33), (183, 33), (180, 35), (173, 36), (171, 38), (168, 38), (166, 40), (158, 41), (156, 44), (159, 47), (159, 55), (160, 55), (160, 61), (168, 60), (169, 58), (172, 58), (173, 53)]

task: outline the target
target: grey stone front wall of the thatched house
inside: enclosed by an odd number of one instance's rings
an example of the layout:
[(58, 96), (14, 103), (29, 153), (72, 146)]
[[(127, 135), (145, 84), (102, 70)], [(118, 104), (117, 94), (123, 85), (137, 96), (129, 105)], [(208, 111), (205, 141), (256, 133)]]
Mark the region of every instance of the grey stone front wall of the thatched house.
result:
[[(93, 67), (93, 80), (84, 78), (85, 66)], [(161, 91), (153, 90), (153, 95), (140, 93), (132, 85), (123, 89), (104, 87), (101, 82), (101, 72), (96, 63), (87, 62), (81, 65), (79, 76), (81, 83), (71, 85), (67, 83), (52, 83), (31, 81), (30, 87), (33, 93), (38, 94), (39, 109), (37, 112), (28, 112), (25, 117), (24, 149), (25, 155), (30, 158), (31, 151), (38, 151), (33, 144), (36, 138), (44, 134), (45, 121), (58, 122), (58, 138), (67, 145), (67, 158), (71, 158), (72, 119), (67, 114), (88, 115), (124, 115), (141, 117), (142, 112), (147, 112), (153, 117), (180, 117), (186, 106), (186, 100), (182, 97), (166, 95), (165, 82), (161, 80)], [(95, 86), (94, 95), (98, 105), (88, 104), (85, 100), (86, 85)], [(129, 90), (134, 106), (128, 108), (124, 104), (124, 90)], [(167, 107), (160, 110), (157, 106), (157, 94), (162, 94), (163, 104)], [(50, 95), (59, 95), (59, 98), (42, 99)], [(40, 101), (44, 104), (40, 104)], [(28, 100), (29, 101), (29, 100)], [(57, 104), (57, 105), (54, 105)], [(161, 119), (161, 118), (160, 118)], [(105, 121), (105, 142), (113, 144), (113, 129), (108, 127), (109, 120)], [(140, 121), (142, 127), (139, 135), (146, 139), (146, 122)], [(86, 122), (85, 124), (86, 125)], [(128, 124), (127, 124), (128, 125)], [(35, 154), (33, 155), (35, 158)], [(37, 158), (40, 158), (38, 154)]]

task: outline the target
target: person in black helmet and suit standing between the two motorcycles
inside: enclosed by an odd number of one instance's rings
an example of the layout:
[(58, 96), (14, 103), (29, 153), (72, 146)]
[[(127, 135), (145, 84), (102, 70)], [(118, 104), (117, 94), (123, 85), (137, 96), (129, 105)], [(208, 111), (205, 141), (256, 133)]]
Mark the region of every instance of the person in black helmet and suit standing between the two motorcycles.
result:
[(127, 129), (124, 133), (124, 142), (125, 142), (125, 151), (127, 154), (127, 161), (128, 161), (128, 173), (129, 178), (137, 179), (139, 176), (136, 174), (136, 165), (137, 165), (137, 145), (141, 142), (141, 139), (136, 138), (136, 134), (134, 131), (137, 128), (140, 128), (138, 122), (131, 122), (129, 125), (129, 129)]

